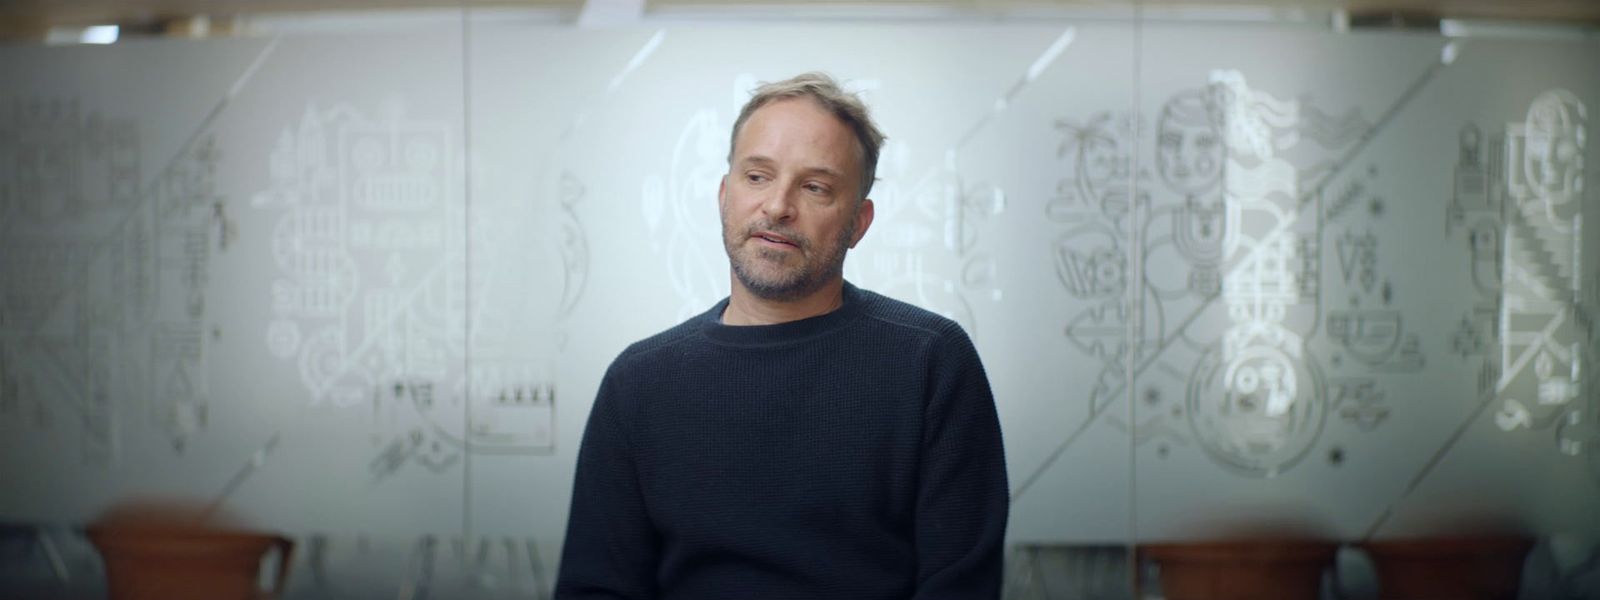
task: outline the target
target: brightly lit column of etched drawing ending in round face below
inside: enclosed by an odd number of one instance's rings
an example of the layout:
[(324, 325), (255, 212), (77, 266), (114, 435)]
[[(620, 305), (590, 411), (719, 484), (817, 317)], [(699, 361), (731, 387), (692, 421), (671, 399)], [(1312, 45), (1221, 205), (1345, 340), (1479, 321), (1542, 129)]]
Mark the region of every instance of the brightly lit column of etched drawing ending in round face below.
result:
[[(1213, 72), (1211, 82), (1227, 99), (1219, 104), (1229, 149), (1229, 221), (1286, 229), (1299, 206), (1278, 198), (1298, 198), (1299, 181), (1280, 152), (1298, 142), (1299, 104), (1251, 90), (1238, 72)], [(1195, 363), (1187, 416), (1202, 448), (1221, 464), (1274, 477), (1315, 443), (1325, 392), (1315, 360), (1286, 323), (1291, 307), (1301, 304), (1294, 237), (1283, 230), (1256, 238), (1248, 227), (1230, 234), (1222, 238), (1224, 256), (1254, 251), (1224, 280), (1222, 304), (1232, 326), (1221, 346)]]

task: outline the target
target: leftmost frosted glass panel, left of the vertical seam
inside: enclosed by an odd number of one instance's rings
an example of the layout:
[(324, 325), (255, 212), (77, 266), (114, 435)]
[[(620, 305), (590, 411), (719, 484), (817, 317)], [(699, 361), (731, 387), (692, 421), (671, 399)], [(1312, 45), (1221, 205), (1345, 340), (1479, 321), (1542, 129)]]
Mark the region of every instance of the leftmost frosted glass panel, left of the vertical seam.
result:
[(459, 48), (5, 54), (6, 514), (459, 528)]

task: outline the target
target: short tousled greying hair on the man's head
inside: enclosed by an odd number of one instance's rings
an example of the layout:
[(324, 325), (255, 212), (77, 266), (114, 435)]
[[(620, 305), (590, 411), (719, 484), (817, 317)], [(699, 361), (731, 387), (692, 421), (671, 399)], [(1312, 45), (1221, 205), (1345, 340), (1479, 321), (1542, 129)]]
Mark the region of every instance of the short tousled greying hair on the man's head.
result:
[(755, 88), (750, 101), (744, 102), (744, 109), (739, 109), (739, 120), (733, 122), (733, 134), (728, 139), (728, 162), (733, 162), (733, 146), (739, 141), (739, 130), (744, 128), (744, 122), (750, 120), (750, 114), (773, 101), (789, 98), (810, 98), (816, 101), (818, 106), (834, 114), (840, 123), (845, 123), (856, 134), (856, 142), (861, 144), (861, 198), (866, 198), (877, 181), (878, 150), (883, 149), (885, 136), (872, 123), (867, 104), (859, 96), (840, 88), (838, 82), (827, 74), (813, 70), (782, 82), (762, 83), (762, 86)]

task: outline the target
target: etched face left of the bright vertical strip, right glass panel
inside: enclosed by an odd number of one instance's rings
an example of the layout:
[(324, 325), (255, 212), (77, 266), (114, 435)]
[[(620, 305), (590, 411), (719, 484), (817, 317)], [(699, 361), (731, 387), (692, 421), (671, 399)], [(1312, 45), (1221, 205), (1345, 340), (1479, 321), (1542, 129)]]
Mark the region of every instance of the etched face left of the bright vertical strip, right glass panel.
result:
[(1222, 173), (1222, 136), (1198, 91), (1166, 102), (1155, 136), (1155, 165), (1173, 190), (1198, 194), (1216, 186)]

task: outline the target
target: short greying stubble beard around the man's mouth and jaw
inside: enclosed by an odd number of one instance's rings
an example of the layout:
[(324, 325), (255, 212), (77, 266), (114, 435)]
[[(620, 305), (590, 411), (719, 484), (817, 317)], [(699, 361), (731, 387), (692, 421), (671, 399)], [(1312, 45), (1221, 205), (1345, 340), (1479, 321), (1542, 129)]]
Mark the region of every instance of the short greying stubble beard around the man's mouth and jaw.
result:
[[(850, 238), (854, 237), (854, 218), (846, 221), (838, 242), (827, 248), (826, 254), (813, 254), (816, 243), (811, 238), (766, 221), (752, 222), (734, 237), (726, 216), (723, 216), (722, 243), (723, 250), (728, 251), (733, 277), (738, 277), (746, 290), (766, 301), (795, 301), (843, 275), (845, 254), (850, 251)], [(800, 251), (800, 264), (794, 267), (782, 264), (792, 251), (750, 246), (750, 235), (760, 230), (770, 230), (794, 242)]]

